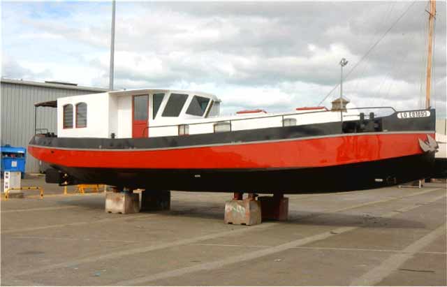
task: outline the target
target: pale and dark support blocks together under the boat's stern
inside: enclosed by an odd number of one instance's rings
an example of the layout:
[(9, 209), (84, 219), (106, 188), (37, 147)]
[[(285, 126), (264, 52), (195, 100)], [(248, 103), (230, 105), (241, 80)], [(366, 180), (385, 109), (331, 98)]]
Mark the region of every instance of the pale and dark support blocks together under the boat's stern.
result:
[(170, 191), (112, 189), (105, 193), (105, 212), (131, 214), (170, 209)]

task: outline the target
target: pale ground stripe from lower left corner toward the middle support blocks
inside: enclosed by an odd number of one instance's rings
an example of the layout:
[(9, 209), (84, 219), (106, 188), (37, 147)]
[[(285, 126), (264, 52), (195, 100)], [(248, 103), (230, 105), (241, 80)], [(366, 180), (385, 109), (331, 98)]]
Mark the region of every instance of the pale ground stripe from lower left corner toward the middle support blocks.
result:
[[(439, 190), (439, 189), (430, 189), (426, 192), (430, 192), (430, 191), (434, 191), (434, 190)], [(405, 196), (405, 197), (411, 197), (413, 195), (419, 195), (419, 194), (420, 193), (411, 193), (409, 196)], [(371, 205), (376, 204), (376, 202), (369, 203), (369, 204), (371, 204)], [(417, 205), (416, 207), (419, 207), (419, 206), (420, 205)], [(357, 208), (357, 207), (358, 207), (357, 205), (353, 206), (353, 208)], [(343, 209), (346, 210), (346, 208), (343, 208)], [(337, 212), (337, 210), (335, 210), (333, 212)], [(316, 215), (316, 216), (320, 216), (320, 215)], [(126, 217), (126, 218), (129, 218), (129, 217)], [(43, 271), (53, 270), (53, 269), (63, 268), (63, 267), (70, 267), (73, 265), (80, 265), (80, 264), (84, 264), (84, 263), (96, 262), (98, 260), (115, 259), (115, 258), (120, 258), (123, 256), (129, 256), (129, 255), (138, 254), (138, 253), (145, 253), (145, 252), (155, 251), (155, 250), (159, 250), (159, 249), (165, 249), (165, 248), (169, 248), (169, 247), (173, 247), (173, 246), (192, 244), (194, 242), (210, 240), (210, 239), (223, 237), (223, 236), (227, 236), (227, 235), (237, 235), (240, 233), (246, 233), (249, 231), (255, 231), (255, 230), (259, 230), (259, 229), (263, 229), (263, 228), (270, 228), (272, 226), (277, 226), (279, 224), (280, 223), (262, 223), (261, 225), (258, 225), (258, 226), (250, 226), (249, 228), (242, 228), (239, 230), (225, 231), (222, 233), (215, 233), (215, 234), (211, 234), (211, 235), (193, 237), (193, 238), (186, 239), (186, 240), (177, 240), (175, 242), (170, 242), (170, 243), (155, 244), (152, 246), (144, 246), (144, 247), (139, 247), (139, 248), (135, 248), (135, 249), (117, 251), (117, 252), (108, 253), (108, 254), (105, 254), (102, 256), (100, 255), (100, 256), (91, 256), (91, 257), (87, 257), (87, 258), (80, 258), (78, 260), (72, 260), (72, 261), (68, 261), (65, 263), (57, 263), (54, 265), (47, 265), (47, 266), (43, 266), (43, 267), (33, 268), (32, 270), (25, 270), (23, 272), (15, 274), (14, 276), (33, 274), (35, 272), (43, 272)]]

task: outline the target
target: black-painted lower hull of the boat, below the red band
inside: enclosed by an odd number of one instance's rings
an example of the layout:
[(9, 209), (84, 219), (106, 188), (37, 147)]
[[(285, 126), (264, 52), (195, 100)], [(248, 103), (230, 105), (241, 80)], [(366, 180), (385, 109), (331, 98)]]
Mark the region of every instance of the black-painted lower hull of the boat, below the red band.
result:
[(135, 170), (54, 166), (71, 184), (108, 184), (147, 190), (323, 193), (377, 189), (429, 177), (434, 154), (418, 154), (321, 168), (263, 170)]

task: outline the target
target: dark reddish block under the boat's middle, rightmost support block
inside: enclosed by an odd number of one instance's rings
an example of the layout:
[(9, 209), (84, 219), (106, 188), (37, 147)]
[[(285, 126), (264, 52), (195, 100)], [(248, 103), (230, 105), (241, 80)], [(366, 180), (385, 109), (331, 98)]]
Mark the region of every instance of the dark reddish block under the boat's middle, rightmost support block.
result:
[(288, 219), (288, 198), (282, 196), (260, 196), (262, 219), (286, 221)]

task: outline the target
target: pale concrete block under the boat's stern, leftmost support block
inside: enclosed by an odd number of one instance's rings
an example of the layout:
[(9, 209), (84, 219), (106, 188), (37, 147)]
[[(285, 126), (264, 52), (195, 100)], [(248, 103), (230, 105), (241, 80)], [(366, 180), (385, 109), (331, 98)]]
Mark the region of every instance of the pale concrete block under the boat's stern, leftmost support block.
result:
[(129, 192), (106, 192), (105, 212), (121, 214), (140, 212), (138, 194)]

